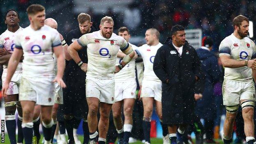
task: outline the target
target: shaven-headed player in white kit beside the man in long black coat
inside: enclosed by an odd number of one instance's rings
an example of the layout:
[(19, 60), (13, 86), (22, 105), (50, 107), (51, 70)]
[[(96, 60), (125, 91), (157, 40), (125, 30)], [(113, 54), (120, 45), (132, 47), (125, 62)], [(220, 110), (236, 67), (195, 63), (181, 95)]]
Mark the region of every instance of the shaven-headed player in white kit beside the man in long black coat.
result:
[(169, 144), (169, 136), (167, 126), (162, 123), (162, 82), (153, 71), (153, 62), (157, 50), (162, 46), (159, 42), (159, 32), (155, 28), (146, 30), (146, 44), (140, 46), (137, 50), (142, 55), (144, 64), (144, 73), (142, 80), (142, 88), (139, 90), (143, 103), (143, 122), (145, 144), (150, 144), (150, 121), (153, 112), (153, 103), (155, 102), (155, 110), (160, 119), (163, 131), (163, 144)]

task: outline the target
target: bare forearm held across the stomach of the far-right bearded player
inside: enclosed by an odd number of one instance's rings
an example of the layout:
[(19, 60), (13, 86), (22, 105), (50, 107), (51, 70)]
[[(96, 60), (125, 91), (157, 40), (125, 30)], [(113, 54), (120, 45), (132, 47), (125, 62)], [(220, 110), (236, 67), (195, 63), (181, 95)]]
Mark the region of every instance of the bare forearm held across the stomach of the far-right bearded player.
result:
[(226, 68), (240, 68), (243, 66), (248, 66), (249, 68), (256, 70), (256, 62), (251, 59), (237, 61), (237, 60), (231, 59), (230, 56), (227, 56), (227, 55), (222, 55), (219, 58), (223, 66)]

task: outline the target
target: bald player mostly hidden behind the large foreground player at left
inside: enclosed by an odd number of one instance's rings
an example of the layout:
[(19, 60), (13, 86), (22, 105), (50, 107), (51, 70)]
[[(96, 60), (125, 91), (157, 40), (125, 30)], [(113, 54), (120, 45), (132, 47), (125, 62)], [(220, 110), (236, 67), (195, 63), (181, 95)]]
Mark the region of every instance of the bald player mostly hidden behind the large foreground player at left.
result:
[[(44, 24), (48, 25), (56, 30), (58, 28), (58, 23), (53, 18), (47, 18), (44, 21)], [(64, 53), (65, 53), (65, 59), (70, 60), (71, 57), (70, 57), (69, 53), (67, 52), (67, 48), (69, 46), (66, 44), (66, 41), (63, 39), (62, 34), (59, 34), (59, 37), (62, 41), (62, 46), (63, 46)], [(56, 61), (55, 55), (53, 55), (53, 60), (55, 61), (55, 74), (57, 74), (57, 61)], [(62, 92), (62, 88), (58, 85), (58, 83), (55, 83), (55, 104), (53, 105), (53, 111), (52, 111), (52, 118), (53, 118), (54, 124), (52, 127), (53, 130), (52, 130), (51, 144), (53, 144), (53, 138), (54, 138), (55, 130), (57, 127), (57, 110), (59, 108), (59, 104), (63, 104), (63, 92)], [(59, 143), (65, 144), (66, 138), (65, 138), (64, 121), (59, 121), (59, 126), (61, 127), (60, 128), (60, 138), (61, 138), (60, 141), (61, 142), (59, 142)], [(56, 134), (58, 134), (58, 130), (57, 130)]]

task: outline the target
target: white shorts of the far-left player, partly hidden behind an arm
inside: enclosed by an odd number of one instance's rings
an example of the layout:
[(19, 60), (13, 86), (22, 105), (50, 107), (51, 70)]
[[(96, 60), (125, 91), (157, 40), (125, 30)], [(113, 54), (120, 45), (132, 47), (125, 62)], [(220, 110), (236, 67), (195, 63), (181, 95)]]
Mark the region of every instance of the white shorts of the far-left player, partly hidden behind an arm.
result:
[[(21, 75), (22, 73), (14, 73), (14, 75), (11, 78), (11, 82), (9, 83), (9, 88), (6, 91), (7, 95), (12, 95), (12, 94), (18, 94), (19, 90), (18, 87), (21, 82)], [(7, 73), (2, 73), (2, 85), (5, 84)]]

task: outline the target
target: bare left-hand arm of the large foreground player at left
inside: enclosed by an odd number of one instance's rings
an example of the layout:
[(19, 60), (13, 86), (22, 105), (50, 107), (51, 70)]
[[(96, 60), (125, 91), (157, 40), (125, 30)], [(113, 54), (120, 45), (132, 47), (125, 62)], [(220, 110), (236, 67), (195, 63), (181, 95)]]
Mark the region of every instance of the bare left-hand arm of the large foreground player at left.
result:
[(23, 55), (22, 49), (14, 48), (14, 52), (12, 53), (10, 60), (8, 62), (7, 76), (6, 76), (5, 84), (2, 87), (3, 96), (7, 96), (6, 91), (9, 87), (9, 82), (11, 81), (11, 77), (13, 76), (14, 72), (16, 71), (16, 68), (20, 62), (22, 55)]

